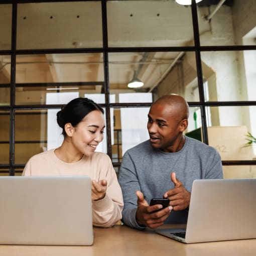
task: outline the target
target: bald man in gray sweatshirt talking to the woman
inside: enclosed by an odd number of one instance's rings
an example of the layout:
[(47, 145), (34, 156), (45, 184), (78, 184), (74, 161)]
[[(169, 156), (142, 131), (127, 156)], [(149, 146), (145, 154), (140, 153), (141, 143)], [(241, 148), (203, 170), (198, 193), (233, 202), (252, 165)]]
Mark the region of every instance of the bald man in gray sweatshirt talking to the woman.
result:
[[(186, 223), (193, 181), (223, 178), (218, 152), (183, 135), (188, 116), (188, 104), (179, 95), (165, 95), (152, 104), (150, 140), (127, 150), (119, 171), (124, 224), (144, 229)], [(152, 198), (168, 198), (169, 206), (149, 206)]]

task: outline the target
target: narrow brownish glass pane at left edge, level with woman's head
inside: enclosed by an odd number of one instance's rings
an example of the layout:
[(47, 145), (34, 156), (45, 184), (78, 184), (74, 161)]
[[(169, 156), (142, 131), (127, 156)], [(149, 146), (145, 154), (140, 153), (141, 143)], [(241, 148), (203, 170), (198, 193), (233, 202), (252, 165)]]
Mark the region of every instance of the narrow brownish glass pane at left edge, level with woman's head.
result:
[[(0, 111), (0, 164), (9, 164), (10, 112)], [(2, 171), (0, 169), (0, 171)], [(8, 171), (9, 173), (9, 171)]]

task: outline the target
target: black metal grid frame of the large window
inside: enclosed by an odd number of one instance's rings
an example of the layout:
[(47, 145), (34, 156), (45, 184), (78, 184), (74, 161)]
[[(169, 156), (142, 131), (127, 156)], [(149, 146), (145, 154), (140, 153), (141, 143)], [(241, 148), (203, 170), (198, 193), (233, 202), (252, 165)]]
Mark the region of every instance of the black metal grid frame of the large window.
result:
[[(102, 40), (103, 46), (99, 48), (68, 48), (68, 49), (33, 49), (33, 50), (17, 50), (16, 49), (16, 35), (17, 35), (17, 8), (18, 4), (25, 3), (53, 3), (53, 2), (101, 2), (101, 18), (102, 18)], [(126, 1), (126, 0), (123, 0)], [(205, 144), (208, 144), (207, 124), (206, 124), (206, 112), (205, 108), (210, 106), (255, 106), (256, 101), (205, 101), (204, 99), (204, 87), (203, 87), (203, 75), (201, 66), (201, 52), (205, 51), (244, 51), (244, 50), (256, 50), (256, 46), (248, 45), (235, 45), (235, 46), (200, 46), (200, 36), (197, 18), (197, 6), (195, 0), (192, 0), (191, 12), (194, 32), (194, 46), (189, 47), (108, 47), (107, 38), (107, 0), (61, 0), (61, 1), (26, 1), (26, 0), (10, 0), (1, 1), (2, 4), (12, 4), (12, 46), (11, 50), (0, 50), (0, 55), (11, 56), (11, 83), (0, 84), (0, 87), (9, 87), (10, 90), (10, 105), (0, 106), (0, 110), (10, 111), (10, 150), (9, 150), (9, 164), (0, 164), (0, 172), (3, 169), (9, 169), (9, 175), (15, 175), (15, 169), (24, 168), (25, 164), (15, 164), (15, 112), (16, 110), (42, 110), (42, 109), (54, 109), (60, 108), (62, 105), (16, 105), (15, 95), (16, 87), (19, 86), (48, 86), (55, 85), (58, 83), (34, 83), (34, 84), (16, 84), (16, 56), (17, 55), (33, 55), (33, 54), (57, 54), (57, 53), (102, 53), (103, 54), (103, 71), (104, 81), (97, 82), (104, 86), (105, 92), (105, 103), (100, 104), (105, 107), (106, 113), (106, 137), (107, 137), (107, 154), (112, 158), (111, 149), (111, 129), (110, 129), (110, 108), (122, 108), (122, 107), (149, 107), (151, 103), (110, 103), (109, 101), (109, 68), (108, 68), (108, 54), (109, 53), (123, 53), (123, 52), (194, 52), (196, 57), (196, 68), (198, 77), (198, 88), (199, 88), (199, 101), (188, 102), (189, 106), (197, 106), (201, 110), (202, 118), (202, 138)], [(71, 83), (68, 83), (69, 85)], [(74, 84), (88, 85), (91, 83), (87, 82), (75, 82)], [(61, 83), (65, 86), (65, 83)], [(223, 165), (256, 165), (256, 160), (251, 161), (222, 161)], [(120, 163), (113, 163), (114, 167), (119, 167)]]

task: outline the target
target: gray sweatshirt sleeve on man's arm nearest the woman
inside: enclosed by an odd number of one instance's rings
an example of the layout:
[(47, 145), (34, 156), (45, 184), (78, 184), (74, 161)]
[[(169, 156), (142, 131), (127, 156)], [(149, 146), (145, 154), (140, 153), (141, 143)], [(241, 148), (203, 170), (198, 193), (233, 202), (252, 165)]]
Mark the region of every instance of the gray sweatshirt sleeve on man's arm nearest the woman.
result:
[(141, 191), (141, 187), (138, 180), (136, 167), (132, 157), (129, 154), (129, 151), (125, 152), (122, 158), (118, 181), (122, 189), (124, 201), (122, 222), (125, 225), (133, 228), (144, 229), (145, 227), (140, 226), (136, 221), (137, 196), (135, 192), (137, 190)]

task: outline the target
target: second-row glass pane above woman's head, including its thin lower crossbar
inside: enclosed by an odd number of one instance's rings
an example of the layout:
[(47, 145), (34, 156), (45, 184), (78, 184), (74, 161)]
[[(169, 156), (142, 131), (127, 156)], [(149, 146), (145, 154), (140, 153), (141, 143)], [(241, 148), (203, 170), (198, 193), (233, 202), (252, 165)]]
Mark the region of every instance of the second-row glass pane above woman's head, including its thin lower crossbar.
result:
[(101, 53), (20, 55), (16, 67), (16, 104), (58, 104), (48, 100), (56, 92), (104, 95)]

